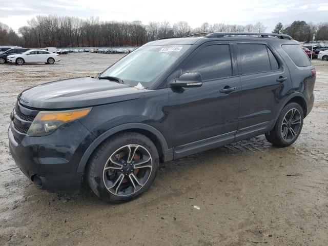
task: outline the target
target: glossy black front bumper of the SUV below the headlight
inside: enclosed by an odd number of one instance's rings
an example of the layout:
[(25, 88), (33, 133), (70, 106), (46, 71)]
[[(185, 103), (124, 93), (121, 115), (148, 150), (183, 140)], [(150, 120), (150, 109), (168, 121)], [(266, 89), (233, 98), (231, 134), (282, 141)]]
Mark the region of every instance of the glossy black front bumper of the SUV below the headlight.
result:
[(9, 150), (18, 168), (37, 188), (50, 191), (78, 191), (83, 173), (77, 173), (81, 157), (93, 135), (78, 121), (72, 121), (44, 137), (25, 136), (18, 140), (11, 126)]

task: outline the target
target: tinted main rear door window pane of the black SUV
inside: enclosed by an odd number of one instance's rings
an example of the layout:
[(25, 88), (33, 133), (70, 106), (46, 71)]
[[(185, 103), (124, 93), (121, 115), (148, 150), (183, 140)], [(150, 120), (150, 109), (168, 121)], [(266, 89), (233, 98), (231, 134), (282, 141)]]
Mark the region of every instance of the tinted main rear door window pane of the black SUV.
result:
[(271, 71), (267, 46), (262, 44), (238, 44), (240, 74), (253, 74)]

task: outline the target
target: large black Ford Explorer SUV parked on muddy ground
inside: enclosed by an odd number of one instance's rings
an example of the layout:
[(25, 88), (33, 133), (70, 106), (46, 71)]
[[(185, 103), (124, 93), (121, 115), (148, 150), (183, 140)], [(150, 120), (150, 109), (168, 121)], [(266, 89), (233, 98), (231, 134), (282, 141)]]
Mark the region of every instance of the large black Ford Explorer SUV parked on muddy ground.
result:
[(265, 134), (285, 147), (314, 102), (316, 72), (288, 35), (210, 33), (150, 42), (95, 77), (19, 94), (9, 148), (38, 188), (130, 200), (160, 161)]

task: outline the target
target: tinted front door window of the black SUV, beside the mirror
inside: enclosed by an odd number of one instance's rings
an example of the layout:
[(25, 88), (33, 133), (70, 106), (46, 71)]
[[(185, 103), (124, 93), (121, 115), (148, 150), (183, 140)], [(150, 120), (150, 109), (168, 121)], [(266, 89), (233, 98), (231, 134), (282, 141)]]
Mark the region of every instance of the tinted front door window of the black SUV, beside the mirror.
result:
[(229, 45), (210, 45), (193, 56), (182, 73), (198, 72), (203, 80), (214, 80), (232, 76)]

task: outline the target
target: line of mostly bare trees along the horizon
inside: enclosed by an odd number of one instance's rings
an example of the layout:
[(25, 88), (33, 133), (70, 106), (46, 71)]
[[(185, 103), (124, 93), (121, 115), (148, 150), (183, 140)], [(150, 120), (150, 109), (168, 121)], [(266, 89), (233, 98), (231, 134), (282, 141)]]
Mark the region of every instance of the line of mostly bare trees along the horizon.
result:
[[(0, 23), (0, 45), (20, 45), (24, 47), (109, 47), (141, 46), (161, 37), (182, 37), (200, 32), (265, 32), (261, 22), (249, 25), (223, 23), (203, 23), (191, 28), (187, 22), (170, 24), (140, 21), (116, 22), (100, 21), (98, 17), (81, 19), (72, 16), (38, 15), (28, 20), (28, 25), (20, 27), (18, 34)], [(317, 25), (296, 21), (283, 26), (278, 23), (273, 33), (285, 33), (298, 41), (312, 40), (313, 33), (320, 40), (328, 40), (328, 23)]]

